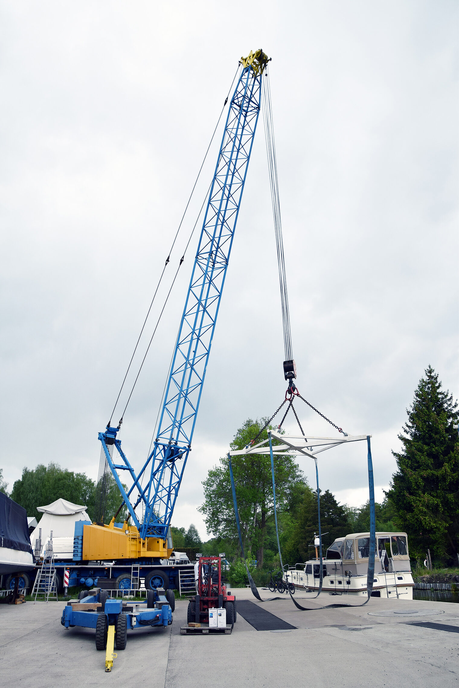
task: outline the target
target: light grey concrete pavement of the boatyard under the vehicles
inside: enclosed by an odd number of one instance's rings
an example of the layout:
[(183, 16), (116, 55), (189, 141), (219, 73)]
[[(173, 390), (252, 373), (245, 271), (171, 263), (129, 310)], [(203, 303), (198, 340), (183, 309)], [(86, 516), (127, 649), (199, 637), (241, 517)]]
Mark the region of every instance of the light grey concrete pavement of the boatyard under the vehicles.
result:
[[(237, 599), (256, 602), (250, 590), (234, 592)], [(267, 590), (260, 594), (271, 596)], [(304, 606), (352, 607), (301, 612), (283, 597), (262, 606), (295, 630), (259, 632), (238, 614), (231, 636), (181, 636), (186, 602), (178, 601), (166, 630), (128, 633), (111, 674), (105, 674), (105, 653), (96, 651), (94, 631), (61, 626), (63, 602), (0, 605), (0, 687), (201, 688), (215, 681), (228, 688), (458, 685), (459, 633), (412, 625), (459, 627), (455, 604), (372, 598), (359, 608), (356, 600), (328, 594), (314, 601), (305, 592), (295, 597)]]

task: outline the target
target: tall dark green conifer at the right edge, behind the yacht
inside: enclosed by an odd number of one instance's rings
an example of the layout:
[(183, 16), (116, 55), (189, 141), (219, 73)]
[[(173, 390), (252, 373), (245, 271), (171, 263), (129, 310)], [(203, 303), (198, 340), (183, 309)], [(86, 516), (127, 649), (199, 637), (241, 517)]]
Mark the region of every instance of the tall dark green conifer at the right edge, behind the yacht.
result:
[(398, 436), (403, 449), (392, 452), (398, 471), (387, 496), (396, 508), (396, 523), (407, 532), (412, 554), (418, 557), (427, 548), (440, 559), (456, 559), (458, 553), (459, 442), (453, 429), (457, 408), (429, 365)]

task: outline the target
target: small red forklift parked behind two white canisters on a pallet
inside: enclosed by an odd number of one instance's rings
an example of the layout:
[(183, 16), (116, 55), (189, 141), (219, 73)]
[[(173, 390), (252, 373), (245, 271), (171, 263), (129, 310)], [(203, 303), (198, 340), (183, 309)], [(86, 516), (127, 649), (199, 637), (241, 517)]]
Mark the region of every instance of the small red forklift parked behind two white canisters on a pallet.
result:
[[(187, 626), (182, 627), (181, 632), (209, 632), (209, 609), (226, 610), (226, 633), (231, 633), (236, 621), (236, 598), (226, 585), (222, 583), (222, 558), (201, 557), (196, 555), (198, 562), (195, 574), (197, 594), (191, 597), (188, 603), (186, 615)], [(196, 570), (196, 569), (195, 569)], [(217, 629), (215, 629), (217, 630)], [(224, 630), (224, 629), (222, 629)]]

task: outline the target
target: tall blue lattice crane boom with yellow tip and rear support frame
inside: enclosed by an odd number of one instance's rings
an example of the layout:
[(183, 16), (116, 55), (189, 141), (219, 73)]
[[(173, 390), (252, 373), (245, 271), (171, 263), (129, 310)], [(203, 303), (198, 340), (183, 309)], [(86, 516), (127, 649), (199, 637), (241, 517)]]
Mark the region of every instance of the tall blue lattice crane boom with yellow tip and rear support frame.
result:
[[(108, 425), (98, 436), (109, 469), (114, 475), (134, 524), (125, 531), (125, 535), (131, 541), (129, 558), (165, 557), (169, 556), (166, 555), (166, 550), (169, 553), (172, 550), (172, 543), (168, 538), (169, 526), (186, 460), (191, 450), (202, 386), (259, 118), (261, 80), (264, 78), (267, 63), (268, 57), (261, 50), (250, 52), (247, 58), (241, 60), (242, 68), (228, 109), (186, 294), (160, 412), (158, 433), (140, 473), (135, 473), (121, 449), (120, 440), (117, 438), (119, 426)], [(114, 448), (120, 460), (114, 460)], [(127, 491), (122, 485), (118, 471), (127, 471), (131, 475), (131, 486)], [(142, 479), (145, 480), (145, 487), (141, 486)], [(138, 491), (138, 499), (133, 505), (131, 494), (134, 490)], [(141, 503), (144, 510), (142, 523), (135, 511), (136, 506)], [(110, 546), (107, 526), (93, 525), (89, 530), (92, 528), (105, 528), (105, 533), (99, 534), (96, 545), (97, 534), (93, 530), (92, 539), (97, 552), (93, 548), (91, 552), (87, 550), (93, 555), (88, 558), (102, 559), (103, 552), (100, 548), (103, 547), (105, 550)], [(113, 531), (114, 519), (108, 529)], [(118, 534), (119, 531), (116, 535)], [(101, 545), (100, 535), (107, 541), (107, 547)], [(136, 544), (132, 542), (133, 539), (137, 539)]]

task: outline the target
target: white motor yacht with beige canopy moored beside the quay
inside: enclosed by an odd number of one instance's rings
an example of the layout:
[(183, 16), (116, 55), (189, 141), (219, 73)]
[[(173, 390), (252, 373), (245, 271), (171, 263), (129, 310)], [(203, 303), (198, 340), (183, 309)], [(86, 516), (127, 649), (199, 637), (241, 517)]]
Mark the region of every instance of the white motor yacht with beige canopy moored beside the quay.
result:
[[(367, 596), (370, 533), (338, 537), (323, 558), (322, 592)], [(319, 590), (320, 561), (297, 563), (286, 572), (297, 588)], [(414, 582), (406, 533), (376, 533), (373, 597), (413, 599)]]

